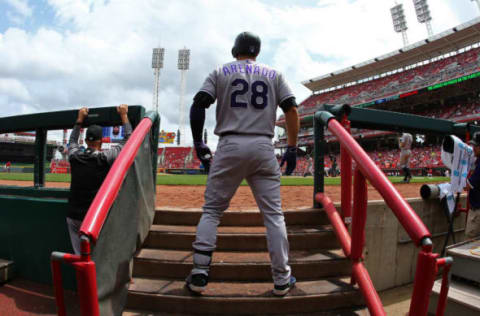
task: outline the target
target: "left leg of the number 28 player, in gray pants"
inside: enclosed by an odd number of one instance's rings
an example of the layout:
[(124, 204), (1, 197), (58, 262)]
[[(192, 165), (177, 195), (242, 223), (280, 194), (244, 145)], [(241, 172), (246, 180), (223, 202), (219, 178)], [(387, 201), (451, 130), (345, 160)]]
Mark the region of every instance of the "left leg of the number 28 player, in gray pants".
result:
[(192, 245), (193, 269), (187, 278), (187, 286), (194, 292), (205, 290), (212, 254), (217, 244), (218, 224), (244, 178), (244, 159), (240, 157), (241, 154), (238, 144), (226, 142), (226, 139), (220, 140), (208, 175), (203, 214)]

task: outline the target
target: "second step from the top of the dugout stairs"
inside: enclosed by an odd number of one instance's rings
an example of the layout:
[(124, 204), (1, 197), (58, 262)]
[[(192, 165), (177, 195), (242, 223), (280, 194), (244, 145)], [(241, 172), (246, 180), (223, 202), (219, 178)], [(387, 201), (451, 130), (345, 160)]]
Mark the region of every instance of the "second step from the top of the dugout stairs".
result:
[[(195, 226), (152, 225), (144, 248), (191, 250)], [(287, 226), (290, 250), (337, 249), (338, 241), (331, 226)], [(265, 227), (220, 226), (217, 250), (266, 251)]]

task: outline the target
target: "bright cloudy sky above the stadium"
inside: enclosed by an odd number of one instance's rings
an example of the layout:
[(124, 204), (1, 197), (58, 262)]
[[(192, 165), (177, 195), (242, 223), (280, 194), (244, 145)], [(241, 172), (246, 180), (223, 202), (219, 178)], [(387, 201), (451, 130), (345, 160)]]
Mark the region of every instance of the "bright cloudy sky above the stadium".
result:
[[(417, 23), (412, 1), (397, 2), (404, 4), (410, 43), (424, 39), (427, 31)], [(262, 39), (258, 60), (282, 71), (300, 102), (310, 94), (301, 81), (403, 45), (392, 27), (389, 9), (394, 3), (0, 0), (0, 116), (120, 103), (151, 109), (152, 48), (164, 47), (161, 128), (176, 131), (180, 117), (178, 49), (191, 49), (185, 96), (188, 110), (205, 76), (232, 60), (234, 38), (246, 30)], [(479, 15), (471, 0), (430, 1), (430, 10), (435, 33)], [(213, 134), (214, 112), (207, 111), (209, 135)], [(191, 142), (188, 136), (187, 144)]]

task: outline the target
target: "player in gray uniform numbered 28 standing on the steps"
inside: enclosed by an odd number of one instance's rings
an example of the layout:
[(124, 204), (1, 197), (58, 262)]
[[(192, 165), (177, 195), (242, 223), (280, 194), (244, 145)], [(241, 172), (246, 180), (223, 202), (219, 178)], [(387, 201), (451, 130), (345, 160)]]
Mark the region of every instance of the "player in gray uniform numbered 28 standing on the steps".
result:
[(288, 132), (287, 166), (294, 167), (299, 129), (297, 104), (283, 75), (256, 62), (260, 45), (258, 36), (240, 33), (232, 48), (236, 61), (218, 67), (207, 77), (190, 109), (195, 149), (207, 169), (211, 152), (202, 141), (202, 130), (205, 109), (215, 100), (215, 134), (220, 137), (193, 243), (194, 266), (186, 280), (188, 289), (195, 293), (203, 292), (208, 283), (217, 226), (243, 179), (252, 189), (267, 228), (273, 294), (287, 294), (296, 281), (288, 265), (289, 245), (280, 198), (281, 172), (272, 138), (277, 106), (280, 106), (285, 113)]

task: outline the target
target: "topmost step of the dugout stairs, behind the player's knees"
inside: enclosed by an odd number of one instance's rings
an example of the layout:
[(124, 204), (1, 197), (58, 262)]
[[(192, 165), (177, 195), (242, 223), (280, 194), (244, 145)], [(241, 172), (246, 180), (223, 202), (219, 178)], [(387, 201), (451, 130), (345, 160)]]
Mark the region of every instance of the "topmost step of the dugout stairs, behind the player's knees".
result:
[[(287, 225), (325, 225), (328, 224), (326, 213), (322, 209), (285, 210)], [(153, 223), (156, 225), (197, 226), (201, 209), (157, 209)], [(263, 226), (260, 211), (226, 211), (220, 226)]]

